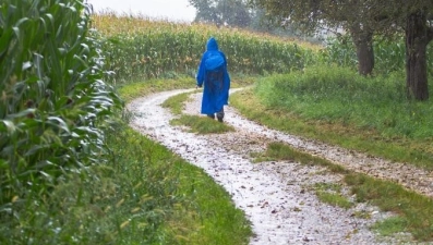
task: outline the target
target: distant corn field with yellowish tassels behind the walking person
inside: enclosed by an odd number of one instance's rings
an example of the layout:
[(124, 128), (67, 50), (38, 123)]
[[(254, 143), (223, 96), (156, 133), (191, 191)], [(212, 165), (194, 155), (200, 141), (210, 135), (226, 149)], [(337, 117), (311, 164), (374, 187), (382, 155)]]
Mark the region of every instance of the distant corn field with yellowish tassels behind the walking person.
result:
[(240, 29), (112, 13), (94, 15), (93, 26), (106, 40), (107, 65), (120, 83), (177, 74), (194, 76), (211, 36), (226, 53), (230, 73), (287, 73), (316, 60), (314, 46)]

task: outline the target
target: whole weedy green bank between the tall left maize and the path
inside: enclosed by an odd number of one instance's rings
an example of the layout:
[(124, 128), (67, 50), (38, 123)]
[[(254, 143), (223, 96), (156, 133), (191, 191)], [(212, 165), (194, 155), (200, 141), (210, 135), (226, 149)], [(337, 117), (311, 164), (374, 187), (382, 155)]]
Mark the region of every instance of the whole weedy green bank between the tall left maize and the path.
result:
[(14, 199), (1, 244), (246, 244), (242, 211), (203, 170), (125, 124), (108, 135), (107, 164)]

